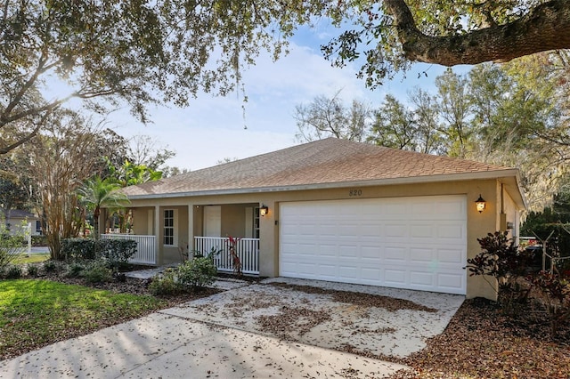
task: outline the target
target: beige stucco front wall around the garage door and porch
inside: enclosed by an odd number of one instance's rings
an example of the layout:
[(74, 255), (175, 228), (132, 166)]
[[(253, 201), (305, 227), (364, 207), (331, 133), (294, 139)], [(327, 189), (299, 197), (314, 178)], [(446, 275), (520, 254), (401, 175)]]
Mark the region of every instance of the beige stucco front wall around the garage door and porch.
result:
[[(194, 236), (201, 235), (202, 206), (224, 205), (222, 214), (222, 232), (224, 235), (243, 235), (244, 206), (261, 205), (269, 206), (269, 213), (260, 218), (260, 275), (274, 277), (279, 275), (279, 205), (286, 201), (310, 201), (310, 200), (334, 200), (351, 199), (350, 189), (359, 189), (362, 196), (358, 198), (395, 198), (414, 196), (438, 196), (438, 195), (465, 195), (468, 200), (468, 258), (479, 253), (479, 245), (476, 238), (485, 237), (489, 232), (499, 230), (501, 225), (501, 181), (496, 179), (477, 181), (442, 181), (413, 184), (397, 184), (384, 186), (358, 186), (342, 189), (310, 189), (289, 190), (273, 192), (256, 192), (249, 194), (232, 195), (208, 195), (189, 198), (156, 198), (156, 199), (131, 199), (133, 207), (139, 206), (176, 206), (179, 209), (179, 229), (186, 230), (181, 233), (185, 241), (192, 241)], [(508, 214), (509, 220), (518, 225), (518, 209), (515, 201), (509, 196), (506, 189), (503, 190), (505, 200), (503, 209)], [(486, 209), (482, 214), (476, 211), (475, 200), (479, 194), (486, 200)], [(172, 206), (170, 206), (172, 205)], [(188, 211), (191, 210), (192, 228), (188, 232)], [(183, 215), (185, 218), (183, 218)], [(233, 226), (232, 226), (233, 225)], [(160, 229), (162, 230), (162, 225)], [(161, 237), (160, 232), (160, 237)], [(161, 262), (168, 262), (173, 256), (170, 249), (164, 249)], [(467, 262), (466, 262), (467, 264)], [(494, 298), (493, 287), (484, 278), (467, 276), (467, 296), (484, 296)]]

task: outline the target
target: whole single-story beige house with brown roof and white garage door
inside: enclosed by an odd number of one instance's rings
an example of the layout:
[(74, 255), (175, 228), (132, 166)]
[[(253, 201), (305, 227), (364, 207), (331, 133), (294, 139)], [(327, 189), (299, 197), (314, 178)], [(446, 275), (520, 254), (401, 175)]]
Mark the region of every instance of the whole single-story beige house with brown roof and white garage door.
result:
[(158, 264), (232, 236), (258, 246), (242, 261), (261, 276), (493, 298), (464, 268), (477, 238), (517, 238), (518, 181), (517, 169), (329, 138), (124, 192), (134, 234), (156, 236)]

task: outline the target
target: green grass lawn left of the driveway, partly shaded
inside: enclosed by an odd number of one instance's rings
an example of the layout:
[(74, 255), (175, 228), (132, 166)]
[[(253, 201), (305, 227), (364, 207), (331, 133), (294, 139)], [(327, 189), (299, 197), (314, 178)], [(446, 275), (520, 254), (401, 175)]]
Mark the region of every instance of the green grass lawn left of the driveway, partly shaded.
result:
[(134, 319), (165, 304), (49, 280), (0, 280), (0, 360)]

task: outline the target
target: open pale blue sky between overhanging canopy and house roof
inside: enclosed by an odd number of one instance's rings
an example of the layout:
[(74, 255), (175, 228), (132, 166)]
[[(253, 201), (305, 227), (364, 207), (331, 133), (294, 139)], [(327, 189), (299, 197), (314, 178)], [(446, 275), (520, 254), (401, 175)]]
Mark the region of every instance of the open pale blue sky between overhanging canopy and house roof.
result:
[[(332, 68), (322, 58), (320, 44), (330, 40), (330, 31), (334, 32), (327, 25), (305, 28), (293, 39), (289, 55), (273, 62), (269, 54), (262, 54), (256, 66), (243, 69), (248, 96), (245, 119), (240, 94), (202, 94), (186, 109), (152, 107), (150, 125), (136, 121), (128, 109), (118, 109), (106, 126), (126, 138), (150, 135), (158, 145), (176, 152), (167, 165), (197, 170), (224, 157), (251, 157), (297, 144), (295, 106), (319, 95), (332, 96), (341, 90), (340, 97), (347, 103), (357, 99), (376, 108), (387, 93), (404, 101), (414, 86), (435, 91), (433, 81), (444, 68), (424, 64), (415, 65), (406, 79), (400, 76), (374, 92), (367, 90), (355, 76), (356, 65)], [(419, 79), (419, 72), (426, 69), (428, 78)]]

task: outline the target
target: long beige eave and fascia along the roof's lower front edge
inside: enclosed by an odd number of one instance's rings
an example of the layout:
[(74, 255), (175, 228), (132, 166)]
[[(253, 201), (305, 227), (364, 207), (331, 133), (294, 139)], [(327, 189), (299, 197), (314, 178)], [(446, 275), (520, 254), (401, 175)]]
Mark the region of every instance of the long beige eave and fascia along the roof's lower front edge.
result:
[[(305, 189), (335, 189), (347, 188), (354, 186), (387, 186), (395, 184), (418, 184), (428, 182), (441, 182), (441, 181), (472, 181), (484, 179), (498, 179), (503, 177), (515, 177), (517, 187), (519, 187), (518, 170), (516, 168), (509, 168), (504, 170), (493, 170), (476, 173), (447, 173), (438, 175), (425, 175), (425, 176), (412, 176), (403, 178), (388, 178), (377, 180), (364, 180), (364, 181), (341, 181), (341, 182), (328, 182), (328, 183), (311, 183), (311, 184), (298, 184), (286, 186), (273, 186), (273, 187), (256, 187), (246, 189), (208, 189), (198, 191), (185, 191), (185, 192), (172, 192), (172, 193), (156, 193), (144, 195), (129, 195), (129, 200), (142, 200), (152, 198), (189, 198), (198, 196), (215, 196), (215, 195), (238, 195), (246, 193), (261, 193), (261, 192), (281, 192), (289, 190), (305, 190)], [(520, 193), (520, 190), (519, 190)], [(521, 201), (525, 205), (525, 198), (521, 193)]]

